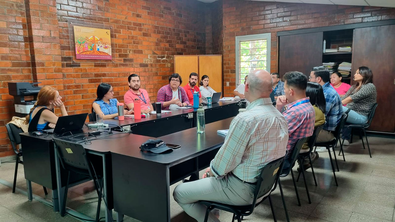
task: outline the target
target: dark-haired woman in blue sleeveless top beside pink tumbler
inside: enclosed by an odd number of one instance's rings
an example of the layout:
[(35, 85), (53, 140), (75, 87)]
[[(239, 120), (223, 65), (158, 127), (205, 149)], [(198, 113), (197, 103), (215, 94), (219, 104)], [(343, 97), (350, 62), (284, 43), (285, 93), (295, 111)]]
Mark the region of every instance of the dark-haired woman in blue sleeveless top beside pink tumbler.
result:
[[(100, 83), (97, 89), (97, 98), (92, 104), (94, 113), (103, 113), (103, 119), (113, 119), (118, 117), (118, 100), (113, 97), (113, 87), (107, 83)], [(132, 110), (129, 112), (132, 113)], [(124, 115), (128, 115), (130, 113), (128, 113), (127, 110), (124, 110)]]

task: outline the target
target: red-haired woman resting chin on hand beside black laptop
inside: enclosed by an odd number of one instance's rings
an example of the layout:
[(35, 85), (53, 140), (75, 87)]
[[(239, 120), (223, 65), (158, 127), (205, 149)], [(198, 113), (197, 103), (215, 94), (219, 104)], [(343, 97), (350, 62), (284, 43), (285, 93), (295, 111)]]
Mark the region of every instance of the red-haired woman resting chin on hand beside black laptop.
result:
[(66, 108), (62, 102), (58, 90), (50, 86), (44, 86), (37, 95), (37, 102), (30, 109), (24, 124), (29, 124), (28, 132), (55, 128), (58, 117), (53, 113), (55, 107), (60, 108), (62, 116), (67, 116)]

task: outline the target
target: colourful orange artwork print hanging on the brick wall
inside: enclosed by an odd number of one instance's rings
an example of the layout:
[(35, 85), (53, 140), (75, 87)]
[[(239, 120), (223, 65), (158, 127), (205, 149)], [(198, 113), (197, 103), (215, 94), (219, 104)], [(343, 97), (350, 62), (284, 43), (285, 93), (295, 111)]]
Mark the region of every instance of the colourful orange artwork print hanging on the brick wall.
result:
[(77, 59), (112, 59), (109, 29), (74, 26), (74, 40)]

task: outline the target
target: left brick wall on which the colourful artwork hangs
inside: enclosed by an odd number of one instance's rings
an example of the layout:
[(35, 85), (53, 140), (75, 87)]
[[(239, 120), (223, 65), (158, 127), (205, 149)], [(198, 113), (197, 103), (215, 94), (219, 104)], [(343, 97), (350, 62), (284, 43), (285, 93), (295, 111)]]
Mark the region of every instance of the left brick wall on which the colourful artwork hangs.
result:
[[(90, 112), (100, 83), (123, 101), (127, 77), (137, 73), (155, 101), (174, 70), (173, 55), (211, 53), (207, 12), (195, 0), (0, 0), (0, 157), (13, 154), (4, 127), (15, 115), (9, 81), (52, 85), (75, 114)], [(114, 62), (76, 60), (73, 21), (112, 27)]]

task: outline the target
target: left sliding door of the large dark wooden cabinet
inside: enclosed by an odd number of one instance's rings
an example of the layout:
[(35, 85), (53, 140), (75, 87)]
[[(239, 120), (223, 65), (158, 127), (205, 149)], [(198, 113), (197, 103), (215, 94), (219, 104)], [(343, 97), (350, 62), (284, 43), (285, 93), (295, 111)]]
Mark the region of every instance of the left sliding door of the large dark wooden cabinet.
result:
[(280, 36), (278, 73), (300, 71), (307, 77), (322, 65), (322, 32)]

